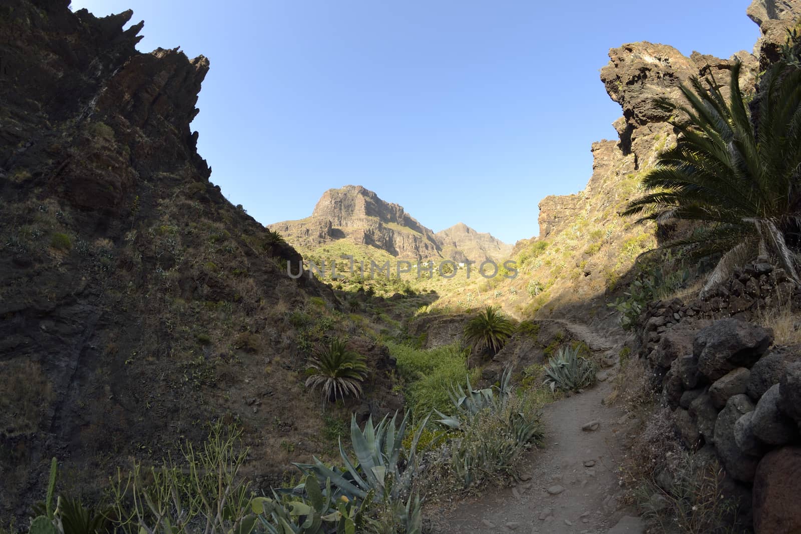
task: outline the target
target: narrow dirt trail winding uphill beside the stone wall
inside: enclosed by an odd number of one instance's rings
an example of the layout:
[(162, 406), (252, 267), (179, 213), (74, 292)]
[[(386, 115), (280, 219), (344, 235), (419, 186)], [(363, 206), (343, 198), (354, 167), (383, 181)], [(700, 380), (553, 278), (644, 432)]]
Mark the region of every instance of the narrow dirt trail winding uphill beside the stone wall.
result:
[[(590, 347), (603, 346), (614, 356), (615, 339), (584, 325), (557, 321)], [(606, 370), (611, 378), (617, 366)], [(584, 393), (549, 404), (543, 410), (547, 436), (520, 468), (525, 479), (513, 488), (492, 489), (445, 512), (436, 532), (553, 532), (555, 534), (623, 534), (644, 532), (634, 512), (620, 509), (618, 464), (622, 436), (629, 428), (619, 408), (602, 399), (610, 393), (606, 379)], [(596, 422), (593, 429), (582, 427)], [(619, 524), (618, 524), (619, 523)]]

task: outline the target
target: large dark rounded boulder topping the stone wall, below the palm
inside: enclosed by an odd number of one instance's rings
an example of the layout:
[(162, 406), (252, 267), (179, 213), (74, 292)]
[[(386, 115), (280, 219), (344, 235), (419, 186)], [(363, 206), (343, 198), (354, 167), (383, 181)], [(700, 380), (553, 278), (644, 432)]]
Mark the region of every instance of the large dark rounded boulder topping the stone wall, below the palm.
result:
[(698, 332), (698, 372), (714, 382), (737, 367), (751, 367), (773, 343), (773, 331), (737, 319), (720, 319)]

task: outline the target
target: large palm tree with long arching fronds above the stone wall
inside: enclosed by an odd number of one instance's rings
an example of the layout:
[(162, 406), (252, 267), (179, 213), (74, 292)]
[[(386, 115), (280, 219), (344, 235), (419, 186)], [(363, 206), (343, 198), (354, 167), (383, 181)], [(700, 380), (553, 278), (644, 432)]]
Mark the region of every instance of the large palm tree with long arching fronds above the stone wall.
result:
[(801, 68), (783, 61), (767, 71), (752, 106), (758, 121), (743, 100), (740, 70), (739, 62), (731, 68), (728, 101), (711, 76), (681, 87), (686, 103), (656, 99), (678, 140), (643, 180), (646, 195), (622, 212), (640, 221), (702, 223), (662, 248), (720, 256), (703, 291), (758, 254), (799, 282), (799, 256), (788, 242), (801, 242)]

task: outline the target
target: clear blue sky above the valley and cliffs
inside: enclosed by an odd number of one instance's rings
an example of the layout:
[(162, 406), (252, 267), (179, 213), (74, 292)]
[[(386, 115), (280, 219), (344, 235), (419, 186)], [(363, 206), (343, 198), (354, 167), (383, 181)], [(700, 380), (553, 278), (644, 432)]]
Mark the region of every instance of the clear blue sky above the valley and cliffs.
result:
[(434, 231), (537, 234), (545, 195), (582, 190), (621, 115), (598, 70), (647, 40), (752, 50), (749, 0), (74, 0), (134, 10), (139, 50), (211, 71), (193, 122), (211, 181), (261, 223), (359, 184)]

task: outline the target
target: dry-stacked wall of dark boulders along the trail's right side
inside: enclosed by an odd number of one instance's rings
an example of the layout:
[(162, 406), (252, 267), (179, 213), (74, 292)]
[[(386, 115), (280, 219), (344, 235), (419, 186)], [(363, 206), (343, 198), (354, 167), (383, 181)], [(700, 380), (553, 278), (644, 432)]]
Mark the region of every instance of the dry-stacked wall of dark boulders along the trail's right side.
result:
[(775, 346), (748, 322), (801, 292), (763, 258), (707, 295), (652, 303), (640, 319), (638, 355), (690, 451), (718, 457), (728, 488), (751, 504), (754, 528), (799, 532), (801, 346)]

